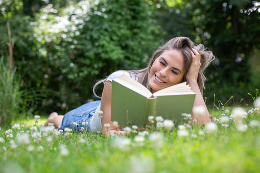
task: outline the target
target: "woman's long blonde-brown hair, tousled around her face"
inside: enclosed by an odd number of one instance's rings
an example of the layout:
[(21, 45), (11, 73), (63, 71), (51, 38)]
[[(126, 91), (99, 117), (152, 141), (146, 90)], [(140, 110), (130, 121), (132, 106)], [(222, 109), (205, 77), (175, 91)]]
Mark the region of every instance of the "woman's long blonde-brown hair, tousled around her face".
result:
[[(150, 69), (151, 69), (154, 61), (156, 60), (156, 58), (158, 58), (165, 51), (179, 50), (184, 58), (184, 75), (183, 75), (181, 82), (185, 82), (187, 71), (190, 68), (192, 61), (193, 61), (192, 52), (191, 52), (192, 48), (197, 50), (198, 53), (201, 55), (201, 59), (200, 59), (201, 65), (200, 65), (200, 69), (199, 69), (199, 73), (198, 73), (197, 82), (198, 82), (201, 94), (203, 95), (203, 89), (205, 89), (204, 83), (206, 80), (206, 78), (204, 76), (204, 70), (207, 68), (207, 66), (210, 64), (210, 62), (212, 60), (214, 60), (215, 57), (211, 51), (206, 51), (206, 48), (203, 44), (195, 44), (188, 37), (172, 38), (166, 44), (157, 48), (157, 50), (154, 52), (152, 58), (150, 59), (148, 66), (146, 68), (139, 69), (139, 70), (129, 70), (128, 72), (133, 75), (138, 75), (138, 82), (141, 83), (142, 85), (144, 85), (149, 90), (151, 90), (151, 88), (149, 86), (149, 82), (148, 82), (149, 73), (150, 73)], [(95, 89), (100, 83), (102, 83), (102, 82), (105, 83), (105, 81), (106, 81), (106, 79), (103, 79), (103, 80), (97, 82), (93, 87), (93, 93), (98, 98), (101, 98), (101, 97), (95, 93)]]

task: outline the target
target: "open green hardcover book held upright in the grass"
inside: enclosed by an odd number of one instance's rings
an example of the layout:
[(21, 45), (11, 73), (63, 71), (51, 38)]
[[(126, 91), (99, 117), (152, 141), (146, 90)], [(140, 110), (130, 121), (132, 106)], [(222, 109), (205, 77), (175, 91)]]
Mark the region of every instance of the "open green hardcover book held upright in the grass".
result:
[(186, 82), (161, 89), (153, 94), (139, 82), (122, 75), (112, 82), (111, 121), (126, 127), (148, 125), (148, 116), (162, 116), (175, 123), (182, 113), (191, 113), (196, 93)]

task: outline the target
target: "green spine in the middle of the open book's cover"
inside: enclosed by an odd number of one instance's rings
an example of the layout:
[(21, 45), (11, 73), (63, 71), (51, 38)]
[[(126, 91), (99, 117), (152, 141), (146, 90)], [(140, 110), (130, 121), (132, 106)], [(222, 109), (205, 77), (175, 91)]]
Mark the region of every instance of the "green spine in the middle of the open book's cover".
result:
[(145, 127), (146, 125), (149, 124), (148, 121), (148, 116), (155, 116), (155, 107), (156, 107), (156, 96), (151, 97), (151, 98), (147, 98), (147, 102), (146, 102), (146, 114), (144, 116), (144, 125), (143, 127)]

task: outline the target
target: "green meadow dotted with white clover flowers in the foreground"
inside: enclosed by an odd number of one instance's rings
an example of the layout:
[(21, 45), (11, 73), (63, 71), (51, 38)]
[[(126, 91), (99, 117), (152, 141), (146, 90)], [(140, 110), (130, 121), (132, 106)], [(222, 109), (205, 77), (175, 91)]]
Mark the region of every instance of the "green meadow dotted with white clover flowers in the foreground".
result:
[(39, 116), (17, 119), (0, 130), (0, 171), (259, 172), (259, 109), (209, 110), (211, 123), (202, 127), (188, 114), (178, 126), (158, 116), (122, 136), (44, 128)]

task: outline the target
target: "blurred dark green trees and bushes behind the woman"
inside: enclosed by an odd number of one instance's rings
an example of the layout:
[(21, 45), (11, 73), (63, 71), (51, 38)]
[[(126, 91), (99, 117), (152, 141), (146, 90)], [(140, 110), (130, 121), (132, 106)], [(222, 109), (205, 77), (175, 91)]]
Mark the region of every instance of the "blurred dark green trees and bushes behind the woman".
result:
[(96, 100), (94, 82), (145, 67), (175, 36), (190, 37), (216, 56), (205, 72), (207, 104), (214, 94), (216, 101), (231, 95), (236, 103), (252, 101), (247, 93), (255, 95), (260, 84), (260, 1), (0, 0), (0, 55), (6, 66), (13, 62), (24, 93), (19, 110), (64, 114)]

